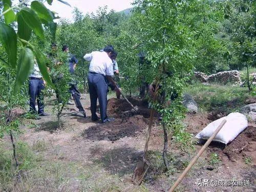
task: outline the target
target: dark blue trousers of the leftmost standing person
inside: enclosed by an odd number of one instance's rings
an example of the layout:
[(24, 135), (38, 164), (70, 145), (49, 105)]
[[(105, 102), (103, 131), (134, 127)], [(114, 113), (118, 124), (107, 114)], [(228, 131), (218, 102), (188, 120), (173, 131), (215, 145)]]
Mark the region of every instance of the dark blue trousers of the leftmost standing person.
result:
[(29, 79), (29, 108), (31, 112), (36, 113), (35, 100), (37, 99), (38, 114), (44, 112), (44, 95), (42, 90), (45, 89), (44, 81), (42, 79)]

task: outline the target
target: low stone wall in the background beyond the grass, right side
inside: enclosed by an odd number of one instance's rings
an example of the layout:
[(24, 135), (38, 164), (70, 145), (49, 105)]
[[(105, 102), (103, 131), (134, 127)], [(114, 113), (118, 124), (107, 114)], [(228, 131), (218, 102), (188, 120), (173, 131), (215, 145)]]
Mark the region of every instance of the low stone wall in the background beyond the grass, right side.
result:
[(212, 75), (206, 75), (202, 72), (195, 72), (195, 78), (200, 82), (218, 82), (226, 84), (228, 82), (231, 83), (241, 83), (240, 73), (237, 70), (233, 71), (223, 71)]

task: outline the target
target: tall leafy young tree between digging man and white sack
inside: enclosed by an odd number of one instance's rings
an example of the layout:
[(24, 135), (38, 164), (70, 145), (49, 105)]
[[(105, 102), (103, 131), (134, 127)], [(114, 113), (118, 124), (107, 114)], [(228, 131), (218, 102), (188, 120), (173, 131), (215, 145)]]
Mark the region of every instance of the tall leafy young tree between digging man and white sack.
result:
[[(148, 67), (151, 76), (147, 76), (146, 80), (148, 83), (154, 81), (155, 92), (161, 95), (153, 107), (163, 116), (163, 159), (166, 168), (167, 130), (173, 132), (174, 138), (184, 133), (180, 122), (184, 117), (181, 95), (193, 68), (191, 60), (195, 58), (192, 47), (194, 33), (184, 25), (183, 9), (186, 3), (175, 0), (137, 0), (134, 3), (143, 48), (147, 51), (147, 60), (151, 62), (151, 67)], [(174, 95), (179, 97), (168, 104), (167, 101)]]

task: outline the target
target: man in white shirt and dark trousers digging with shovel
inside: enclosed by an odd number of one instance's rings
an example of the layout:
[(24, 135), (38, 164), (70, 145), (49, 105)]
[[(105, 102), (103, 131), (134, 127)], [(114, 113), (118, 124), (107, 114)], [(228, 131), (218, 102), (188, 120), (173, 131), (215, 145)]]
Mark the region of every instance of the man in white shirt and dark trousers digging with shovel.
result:
[(116, 82), (112, 78), (114, 75), (113, 63), (111, 60), (112, 51), (112, 46), (106, 46), (103, 52), (94, 51), (83, 56), (85, 60), (91, 61), (88, 73), (88, 85), (91, 99), (92, 121), (97, 121), (99, 119), (96, 115), (98, 98), (102, 123), (114, 120), (108, 118), (106, 115), (106, 105), (108, 103), (108, 84), (106, 83), (106, 79), (113, 85), (116, 85)]

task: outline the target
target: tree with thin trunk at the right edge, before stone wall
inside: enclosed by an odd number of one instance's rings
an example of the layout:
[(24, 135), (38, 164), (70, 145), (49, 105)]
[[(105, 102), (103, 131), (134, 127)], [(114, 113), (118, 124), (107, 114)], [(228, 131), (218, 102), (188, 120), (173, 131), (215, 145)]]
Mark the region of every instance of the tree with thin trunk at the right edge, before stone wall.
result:
[(226, 1), (225, 18), (228, 19), (226, 32), (230, 35), (232, 56), (236, 56), (242, 68), (247, 69), (247, 87), (252, 91), (249, 81), (249, 66), (256, 66), (255, 41), (255, 1)]

